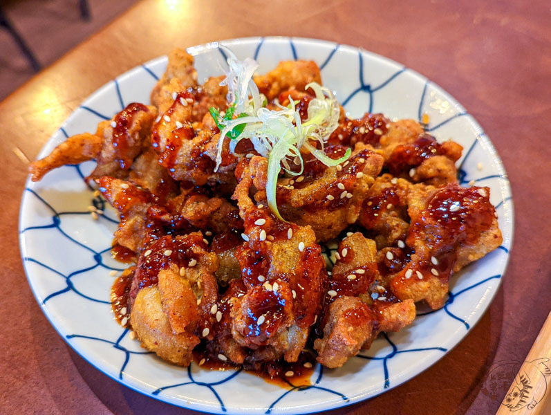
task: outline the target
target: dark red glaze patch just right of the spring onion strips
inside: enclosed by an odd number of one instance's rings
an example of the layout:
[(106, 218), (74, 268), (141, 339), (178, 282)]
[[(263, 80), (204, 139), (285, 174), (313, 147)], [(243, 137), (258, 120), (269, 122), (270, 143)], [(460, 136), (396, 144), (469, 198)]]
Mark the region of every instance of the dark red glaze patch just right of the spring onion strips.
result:
[(356, 142), (378, 147), (381, 136), (387, 133), (390, 120), (380, 113), (366, 113), (362, 118), (345, 118), (329, 137), (330, 144), (354, 146)]

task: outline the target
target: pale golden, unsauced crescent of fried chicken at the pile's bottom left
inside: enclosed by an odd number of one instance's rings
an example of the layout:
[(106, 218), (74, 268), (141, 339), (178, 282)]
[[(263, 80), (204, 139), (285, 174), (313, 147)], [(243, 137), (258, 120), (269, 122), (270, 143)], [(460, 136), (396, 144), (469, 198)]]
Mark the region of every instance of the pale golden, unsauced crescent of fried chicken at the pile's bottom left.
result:
[(174, 365), (189, 366), (192, 362), (192, 351), (200, 340), (187, 331), (172, 331), (169, 319), (162, 309), (161, 294), (157, 286), (144, 288), (138, 293), (130, 320), (142, 347)]

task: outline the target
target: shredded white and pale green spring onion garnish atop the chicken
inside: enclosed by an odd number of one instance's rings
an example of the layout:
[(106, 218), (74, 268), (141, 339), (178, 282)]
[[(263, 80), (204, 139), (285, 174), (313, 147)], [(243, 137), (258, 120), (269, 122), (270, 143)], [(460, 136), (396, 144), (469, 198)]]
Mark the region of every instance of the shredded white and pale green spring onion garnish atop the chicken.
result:
[[(231, 50), (226, 49), (229, 56), (227, 64), (230, 66), (221, 85), (227, 85), (227, 98), (230, 105), (235, 107), (233, 120), (217, 120), (223, 129), (218, 139), (218, 154), (216, 154), (216, 168), (222, 162), (223, 142), (226, 136), (239, 125), (245, 127), (236, 138), (230, 140), (230, 151), (235, 154), (236, 145), (243, 139), (252, 143), (257, 153), (268, 158), (268, 181), (266, 183), (266, 198), (272, 212), (282, 221), (276, 203), (277, 180), (281, 169), (292, 176), (299, 176), (303, 172), (304, 162), (301, 149), (306, 149), (317, 160), (327, 166), (343, 163), (350, 157), (351, 149), (347, 149), (344, 156), (333, 160), (324, 152), (324, 145), (329, 136), (338, 126), (340, 107), (335, 96), (324, 86), (312, 82), (306, 89), (312, 89), (316, 97), (308, 104), (308, 118), (302, 122), (300, 113), (295, 108), (296, 102), (289, 96), (287, 107), (277, 104), (278, 110), (271, 110), (261, 106), (265, 97), (259, 93), (252, 76), (258, 64), (250, 58), (244, 61), (237, 60)], [(249, 98), (250, 97), (250, 98)], [(311, 141), (319, 142), (318, 146)], [(317, 147), (321, 147), (317, 148)], [(298, 163), (297, 163), (298, 158)], [(300, 172), (293, 172), (289, 163), (300, 165)]]

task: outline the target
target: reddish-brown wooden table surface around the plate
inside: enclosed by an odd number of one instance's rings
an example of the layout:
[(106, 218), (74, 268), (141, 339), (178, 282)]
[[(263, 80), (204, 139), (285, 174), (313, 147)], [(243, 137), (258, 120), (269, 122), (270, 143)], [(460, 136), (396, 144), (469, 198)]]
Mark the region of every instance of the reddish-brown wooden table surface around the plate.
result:
[(15, 149), (35, 158), (88, 94), (174, 46), (253, 35), (318, 37), (402, 62), (451, 92), (492, 138), (516, 214), (511, 261), (492, 306), (423, 374), (334, 413), (495, 412), (503, 391), (493, 400), (482, 393), (489, 367), (523, 360), (551, 304), (551, 11), (547, 1), (469, 3), (147, 0), (10, 95), (0, 104), (0, 413), (187, 413), (101, 374), (46, 321), (19, 255), (27, 163)]

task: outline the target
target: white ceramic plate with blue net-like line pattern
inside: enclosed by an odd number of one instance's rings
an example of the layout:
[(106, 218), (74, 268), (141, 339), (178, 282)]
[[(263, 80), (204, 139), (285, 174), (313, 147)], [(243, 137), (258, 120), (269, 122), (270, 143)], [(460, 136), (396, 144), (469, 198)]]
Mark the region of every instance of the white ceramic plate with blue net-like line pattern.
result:
[[(254, 57), (265, 72), (284, 59), (313, 59), (324, 84), (337, 93), (352, 116), (365, 111), (390, 118), (429, 115), (428, 130), (439, 140), (463, 145), (458, 161), (464, 185), (491, 188), (503, 246), (468, 266), (450, 284), (450, 299), (439, 311), (419, 316), (400, 333), (381, 335), (368, 351), (340, 369), (312, 375), (311, 387), (287, 389), (244, 371), (188, 369), (145, 353), (113, 319), (110, 270), (122, 264), (109, 253), (117, 215), (95, 199), (82, 181), (93, 163), (55, 170), (40, 183), (27, 183), (21, 203), (21, 252), (28, 281), (44, 313), (68, 344), (92, 365), (122, 384), (153, 398), (204, 412), (307, 413), (341, 407), (400, 385), (442, 358), (478, 322), (492, 302), (505, 271), (512, 242), (510, 185), (500, 158), (483, 130), (448, 93), (389, 59), (351, 46), (313, 39), (267, 37), (221, 42), (240, 59)], [(199, 79), (219, 75), (218, 44), (189, 48)], [(149, 103), (149, 93), (165, 71), (166, 57), (120, 75), (93, 93), (71, 114), (40, 153), (46, 156), (67, 136), (95, 131), (130, 102)], [(480, 168), (481, 167), (481, 168)], [(93, 221), (95, 204), (105, 216)]]

